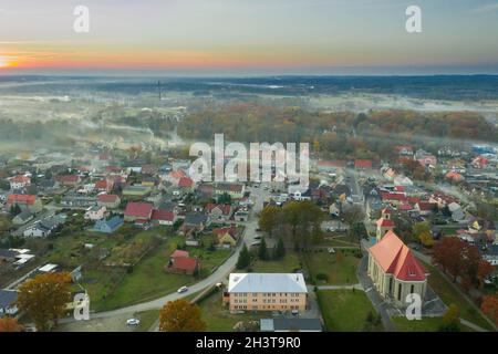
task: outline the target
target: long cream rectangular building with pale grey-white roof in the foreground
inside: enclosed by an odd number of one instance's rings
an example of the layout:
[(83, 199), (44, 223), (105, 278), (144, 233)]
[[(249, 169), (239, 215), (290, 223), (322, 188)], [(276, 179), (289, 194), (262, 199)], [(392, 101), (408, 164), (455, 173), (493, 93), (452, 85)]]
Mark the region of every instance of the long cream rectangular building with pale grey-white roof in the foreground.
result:
[(224, 293), (230, 311), (304, 311), (307, 300), (300, 273), (231, 273)]

